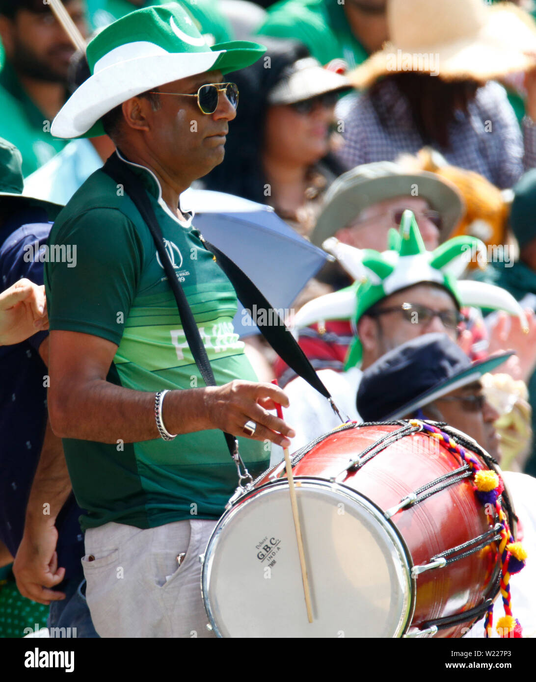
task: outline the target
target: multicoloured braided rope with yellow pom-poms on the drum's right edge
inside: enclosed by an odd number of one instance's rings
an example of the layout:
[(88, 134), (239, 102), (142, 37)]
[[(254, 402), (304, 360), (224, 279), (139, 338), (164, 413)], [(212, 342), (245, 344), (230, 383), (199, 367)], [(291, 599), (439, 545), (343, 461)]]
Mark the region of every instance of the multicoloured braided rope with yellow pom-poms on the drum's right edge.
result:
[[(525, 565), (526, 552), (522, 548), (520, 542), (515, 542), (508, 524), (507, 516), (502, 507), (502, 494), (504, 492), (504, 484), (501, 478), (492, 469), (484, 469), (480, 462), (471, 454), (465, 451), (464, 447), (456, 442), (447, 432), (442, 431), (436, 426), (427, 424), (426, 421), (419, 421), (411, 419), (409, 422), (413, 426), (418, 426), (419, 430), (427, 433), (430, 437), (438, 439), (444, 443), (445, 447), (452, 454), (458, 454), (468, 466), (471, 467), (473, 473), (473, 490), (484, 506), (486, 518), (488, 523), (500, 527), (498, 532), (499, 537), (497, 541), (492, 541), (492, 546), (498, 551), (498, 557), (501, 563), (501, 597), (503, 598), (503, 607), (505, 616), (498, 620), (496, 630), (501, 637), (522, 637), (522, 628), (518, 619), (514, 619), (511, 611), (511, 595), (510, 595), (510, 576), (518, 573)], [(469, 447), (473, 448), (470, 443)], [(486, 462), (487, 463), (487, 462)], [(498, 520), (494, 523), (494, 516)], [(495, 528), (494, 528), (495, 530)], [(500, 539), (498, 548), (496, 542)], [(484, 621), (484, 636), (488, 638), (493, 624), (493, 604), (491, 604), (486, 612), (486, 619)]]

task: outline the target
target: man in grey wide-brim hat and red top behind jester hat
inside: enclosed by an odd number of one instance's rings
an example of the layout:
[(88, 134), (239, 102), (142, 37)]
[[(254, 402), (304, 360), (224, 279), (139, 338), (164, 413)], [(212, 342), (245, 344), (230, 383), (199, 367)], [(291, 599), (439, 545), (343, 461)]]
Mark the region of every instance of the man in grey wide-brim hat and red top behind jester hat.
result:
[[(426, 249), (432, 251), (456, 229), (464, 202), (453, 183), (433, 173), (404, 170), (387, 161), (363, 164), (348, 170), (329, 187), (310, 239), (322, 246), (325, 239), (336, 237), (348, 246), (381, 252), (389, 246), (389, 231), (398, 230), (406, 209), (413, 212)], [(338, 262), (327, 263), (301, 292), (295, 307), (352, 282)], [(313, 364), (318, 362), (318, 368), (342, 369), (352, 338), (347, 320), (329, 320), (321, 327), (314, 324), (300, 331), (306, 355)], [(282, 360), (276, 360), (274, 370), (284, 383), (281, 375), (286, 365)]]

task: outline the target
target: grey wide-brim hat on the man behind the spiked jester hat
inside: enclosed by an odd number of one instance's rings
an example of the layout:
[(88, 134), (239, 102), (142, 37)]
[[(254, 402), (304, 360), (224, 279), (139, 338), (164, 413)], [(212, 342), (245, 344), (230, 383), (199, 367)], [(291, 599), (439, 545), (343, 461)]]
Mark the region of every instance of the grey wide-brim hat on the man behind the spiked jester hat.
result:
[(340, 229), (356, 220), (363, 209), (398, 196), (424, 198), (430, 208), (443, 219), (440, 243), (446, 241), (464, 214), (464, 201), (456, 186), (434, 173), (408, 173), (391, 161), (378, 161), (355, 166), (334, 181), (324, 198), (323, 209), (316, 220), (311, 241), (321, 246)]

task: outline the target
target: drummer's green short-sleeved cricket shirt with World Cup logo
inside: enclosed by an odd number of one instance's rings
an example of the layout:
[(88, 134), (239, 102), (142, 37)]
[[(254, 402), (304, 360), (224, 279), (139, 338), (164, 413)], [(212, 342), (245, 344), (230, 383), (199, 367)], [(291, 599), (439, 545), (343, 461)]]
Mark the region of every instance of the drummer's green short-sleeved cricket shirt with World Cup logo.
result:
[[(233, 329), (233, 286), (190, 220), (179, 221), (162, 201), (153, 173), (130, 165), (149, 190), (215, 382), (257, 381)], [(116, 385), (154, 392), (205, 386), (149, 228), (106, 173), (95, 171), (74, 194), (48, 243), (65, 245), (64, 262), (49, 258), (45, 264), (51, 331), (78, 331), (117, 344), (107, 377)], [(63, 439), (76, 500), (87, 509), (83, 529), (110, 521), (151, 528), (192, 516), (221, 516), (237, 486), (237, 471), (220, 430), (173, 441), (123, 441), (128, 434), (119, 428), (117, 444)], [(251, 473), (267, 468), (268, 444), (242, 438), (239, 444)]]

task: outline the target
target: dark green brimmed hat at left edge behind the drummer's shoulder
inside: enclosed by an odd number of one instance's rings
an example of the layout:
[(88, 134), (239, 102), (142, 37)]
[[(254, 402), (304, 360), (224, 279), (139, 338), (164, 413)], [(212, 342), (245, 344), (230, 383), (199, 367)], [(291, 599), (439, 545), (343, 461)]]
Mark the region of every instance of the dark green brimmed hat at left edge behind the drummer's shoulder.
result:
[(63, 206), (23, 196), (23, 187), (23, 157), (15, 145), (0, 138), (0, 216), (18, 208), (37, 207), (45, 209), (48, 218), (54, 220)]

